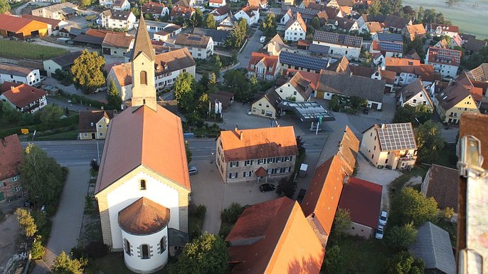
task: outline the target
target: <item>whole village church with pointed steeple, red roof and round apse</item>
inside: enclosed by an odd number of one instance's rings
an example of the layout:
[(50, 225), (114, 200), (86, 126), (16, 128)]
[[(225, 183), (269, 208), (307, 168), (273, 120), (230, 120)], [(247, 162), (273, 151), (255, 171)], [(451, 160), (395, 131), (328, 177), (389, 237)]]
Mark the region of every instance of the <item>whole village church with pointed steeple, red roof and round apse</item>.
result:
[(154, 49), (141, 16), (132, 106), (111, 122), (95, 187), (103, 242), (127, 268), (153, 273), (188, 241), (191, 191), (181, 120), (157, 104)]

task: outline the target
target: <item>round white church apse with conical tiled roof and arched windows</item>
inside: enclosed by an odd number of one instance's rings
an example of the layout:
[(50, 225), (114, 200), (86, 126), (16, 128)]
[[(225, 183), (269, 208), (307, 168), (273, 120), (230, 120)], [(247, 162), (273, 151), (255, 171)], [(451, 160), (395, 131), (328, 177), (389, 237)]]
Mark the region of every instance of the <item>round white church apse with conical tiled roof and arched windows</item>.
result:
[(169, 209), (145, 197), (119, 212), (124, 261), (135, 273), (153, 273), (168, 263)]

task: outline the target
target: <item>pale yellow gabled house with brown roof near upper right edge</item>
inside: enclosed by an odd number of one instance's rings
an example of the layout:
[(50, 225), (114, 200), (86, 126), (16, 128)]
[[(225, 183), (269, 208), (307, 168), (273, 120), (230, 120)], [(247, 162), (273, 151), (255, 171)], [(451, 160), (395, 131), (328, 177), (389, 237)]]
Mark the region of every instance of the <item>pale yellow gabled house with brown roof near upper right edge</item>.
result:
[(460, 83), (445, 88), (435, 99), (437, 114), (443, 122), (457, 124), (463, 112), (479, 113), (472, 93)]

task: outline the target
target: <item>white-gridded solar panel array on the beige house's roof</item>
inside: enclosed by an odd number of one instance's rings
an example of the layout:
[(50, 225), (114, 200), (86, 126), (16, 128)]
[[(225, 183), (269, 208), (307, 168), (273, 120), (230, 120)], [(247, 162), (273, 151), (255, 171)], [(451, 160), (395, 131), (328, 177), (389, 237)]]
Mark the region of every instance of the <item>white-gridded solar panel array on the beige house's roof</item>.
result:
[(378, 139), (382, 151), (417, 148), (410, 123), (382, 125), (378, 129)]

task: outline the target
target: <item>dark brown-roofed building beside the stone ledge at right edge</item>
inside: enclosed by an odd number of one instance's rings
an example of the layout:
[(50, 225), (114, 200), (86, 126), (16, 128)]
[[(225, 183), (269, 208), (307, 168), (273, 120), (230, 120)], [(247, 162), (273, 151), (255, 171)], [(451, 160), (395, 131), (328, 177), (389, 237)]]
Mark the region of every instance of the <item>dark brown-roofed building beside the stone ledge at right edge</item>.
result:
[(457, 169), (433, 164), (421, 186), (422, 194), (433, 197), (439, 209), (451, 208), (458, 212), (459, 172)]

